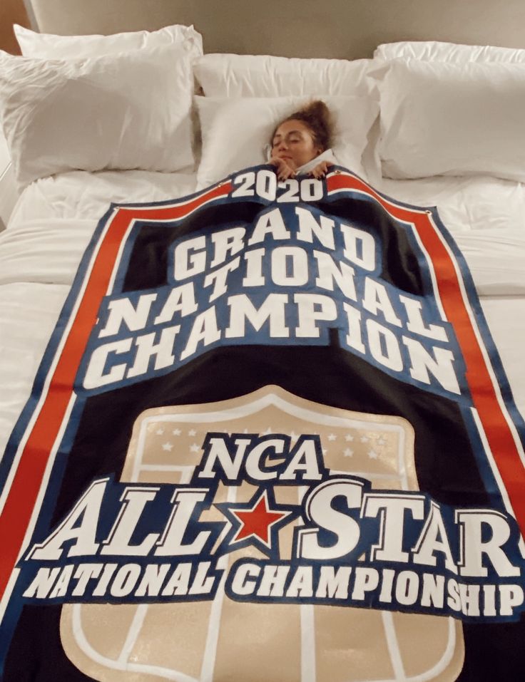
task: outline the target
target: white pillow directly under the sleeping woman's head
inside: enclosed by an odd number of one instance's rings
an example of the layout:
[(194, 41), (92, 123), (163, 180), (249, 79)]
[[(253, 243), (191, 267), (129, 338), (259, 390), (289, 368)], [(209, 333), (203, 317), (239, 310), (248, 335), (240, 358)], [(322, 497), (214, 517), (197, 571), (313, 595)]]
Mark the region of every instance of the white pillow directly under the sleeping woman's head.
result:
[[(241, 168), (267, 162), (267, 144), (275, 126), (310, 102), (311, 97), (194, 98), (202, 131), (198, 184), (222, 180)], [(379, 112), (377, 101), (364, 97), (326, 97), (334, 118), (332, 150), (340, 165), (363, 175), (367, 135)]]

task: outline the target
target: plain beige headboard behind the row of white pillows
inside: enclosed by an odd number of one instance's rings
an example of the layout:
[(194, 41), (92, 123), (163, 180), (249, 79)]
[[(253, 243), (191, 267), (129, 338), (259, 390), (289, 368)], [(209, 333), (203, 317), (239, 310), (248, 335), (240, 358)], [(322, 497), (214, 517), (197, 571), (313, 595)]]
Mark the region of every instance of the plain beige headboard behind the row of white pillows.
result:
[(78, 35), (193, 24), (205, 52), (355, 59), (379, 43), (525, 48), (523, 0), (26, 0), (36, 28)]

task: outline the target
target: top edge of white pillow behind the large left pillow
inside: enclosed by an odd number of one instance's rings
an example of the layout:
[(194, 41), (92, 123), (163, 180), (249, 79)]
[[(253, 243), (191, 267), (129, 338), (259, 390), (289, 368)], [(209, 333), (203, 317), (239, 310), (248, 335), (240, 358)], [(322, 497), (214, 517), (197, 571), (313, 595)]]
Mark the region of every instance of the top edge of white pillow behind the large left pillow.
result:
[(78, 59), (117, 52), (180, 45), (195, 56), (203, 53), (203, 39), (193, 26), (165, 26), (158, 31), (132, 31), (112, 36), (53, 36), (14, 25), (14, 34), (24, 57)]

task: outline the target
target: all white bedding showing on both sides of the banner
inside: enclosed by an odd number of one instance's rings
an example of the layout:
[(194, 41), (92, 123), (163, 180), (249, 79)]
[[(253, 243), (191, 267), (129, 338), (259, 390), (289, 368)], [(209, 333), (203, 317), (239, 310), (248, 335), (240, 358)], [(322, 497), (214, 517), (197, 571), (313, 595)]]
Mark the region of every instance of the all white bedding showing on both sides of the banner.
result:
[[(69, 172), (30, 185), (0, 233), (0, 453), (98, 219), (113, 202), (152, 202), (196, 189), (195, 175)], [(525, 187), (487, 177), (382, 180), (407, 203), (437, 205), (471, 269), (489, 329), (525, 414)]]

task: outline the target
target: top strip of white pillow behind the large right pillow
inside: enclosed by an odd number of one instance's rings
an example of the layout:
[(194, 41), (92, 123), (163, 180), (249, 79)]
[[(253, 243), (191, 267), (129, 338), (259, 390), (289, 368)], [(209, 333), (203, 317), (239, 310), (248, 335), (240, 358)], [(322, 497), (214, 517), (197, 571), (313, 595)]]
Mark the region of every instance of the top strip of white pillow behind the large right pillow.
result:
[(459, 45), (439, 41), (402, 41), (384, 43), (374, 51), (375, 59), (419, 59), (421, 61), (449, 61), (464, 64), (467, 61), (524, 63), (525, 50), (490, 45)]

